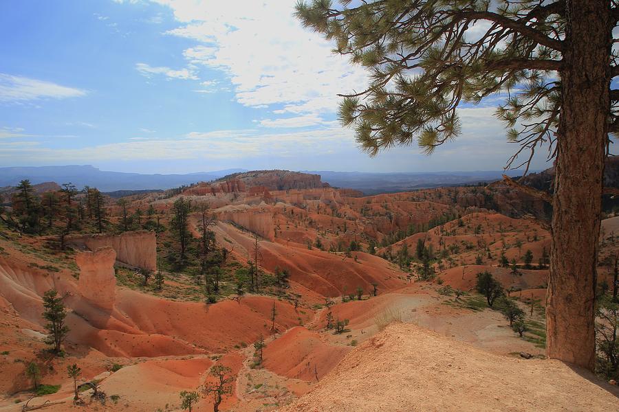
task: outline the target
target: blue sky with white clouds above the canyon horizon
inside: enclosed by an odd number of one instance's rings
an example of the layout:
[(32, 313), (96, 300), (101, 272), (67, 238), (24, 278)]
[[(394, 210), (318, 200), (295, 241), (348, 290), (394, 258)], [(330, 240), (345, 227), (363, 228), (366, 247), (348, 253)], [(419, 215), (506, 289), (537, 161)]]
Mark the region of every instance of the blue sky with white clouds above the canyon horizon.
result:
[(367, 73), (304, 29), (295, 3), (0, 1), (0, 167), (501, 170), (517, 150), (491, 100), (461, 108), (462, 135), (431, 156), (369, 157), (336, 119), (337, 94)]

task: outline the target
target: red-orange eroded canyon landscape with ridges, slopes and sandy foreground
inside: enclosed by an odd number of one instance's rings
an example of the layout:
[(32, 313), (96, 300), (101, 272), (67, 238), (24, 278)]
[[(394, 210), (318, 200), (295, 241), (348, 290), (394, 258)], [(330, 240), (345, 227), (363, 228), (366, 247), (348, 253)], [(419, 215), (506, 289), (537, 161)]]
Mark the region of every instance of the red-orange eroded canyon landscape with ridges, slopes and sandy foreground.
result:
[[(180, 410), (180, 391), (212, 382), (213, 365), (230, 368), (224, 411), (449, 411), (480, 402), (601, 411), (619, 395), (587, 371), (544, 359), (547, 209), (511, 187), (364, 196), (317, 175), (259, 171), (125, 199), (132, 216), (150, 210), (135, 230), (118, 229), (120, 207), (108, 199), (109, 232), (71, 234), (65, 250), (54, 236), (3, 229), (0, 367), (10, 379), (0, 382), (0, 411), (21, 410), (30, 396), (24, 368), (43, 365), (42, 297), (52, 288), (69, 332), (65, 356), (41, 379), (61, 387), (32, 401), (62, 402), (50, 411), (79, 408), (65, 374), (72, 363), (80, 382), (96, 380), (119, 400), (108, 400), (111, 411)], [(174, 229), (180, 199), (191, 202), (184, 263)], [(200, 266), (205, 216), (207, 256), (220, 262), (209, 271)], [(619, 217), (602, 225), (598, 274), (612, 282)], [(260, 288), (243, 278), (254, 267)], [(484, 272), (525, 312), (523, 337), (477, 294)], [(543, 396), (558, 385), (569, 396)], [(83, 399), (96, 407), (90, 393)], [(212, 408), (204, 397), (194, 410)]]

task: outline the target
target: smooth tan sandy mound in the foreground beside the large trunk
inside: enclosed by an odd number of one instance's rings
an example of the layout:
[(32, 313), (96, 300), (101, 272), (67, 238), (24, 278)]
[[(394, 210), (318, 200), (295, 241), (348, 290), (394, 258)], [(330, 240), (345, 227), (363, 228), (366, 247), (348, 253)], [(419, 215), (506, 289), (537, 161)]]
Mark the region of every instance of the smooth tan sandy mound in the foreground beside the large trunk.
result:
[(397, 324), (279, 411), (611, 411), (617, 396), (616, 387), (558, 361), (490, 354)]

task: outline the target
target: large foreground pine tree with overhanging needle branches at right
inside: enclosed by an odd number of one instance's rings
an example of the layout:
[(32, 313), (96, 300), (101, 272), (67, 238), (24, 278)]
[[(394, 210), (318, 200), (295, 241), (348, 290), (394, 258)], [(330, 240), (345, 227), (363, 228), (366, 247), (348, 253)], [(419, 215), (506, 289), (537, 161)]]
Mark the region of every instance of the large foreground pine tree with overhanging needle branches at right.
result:
[[(506, 181), (552, 203), (547, 355), (594, 369), (594, 303), (605, 159), (619, 131), (619, 75), (607, 0), (300, 1), (306, 27), (371, 71), (345, 96), (340, 121), (376, 155), (418, 144), (431, 153), (461, 133), (457, 108), (497, 93), (496, 115), (520, 145), (508, 167), (546, 145), (554, 193)], [(477, 24), (476, 24), (477, 23)], [(487, 24), (481, 34), (473, 33)], [(484, 26), (481, 26), (484, 27)], [(586, 87), (585, 87), (586, 85)], [(578, 225), (574, 225), (578, 222)]]

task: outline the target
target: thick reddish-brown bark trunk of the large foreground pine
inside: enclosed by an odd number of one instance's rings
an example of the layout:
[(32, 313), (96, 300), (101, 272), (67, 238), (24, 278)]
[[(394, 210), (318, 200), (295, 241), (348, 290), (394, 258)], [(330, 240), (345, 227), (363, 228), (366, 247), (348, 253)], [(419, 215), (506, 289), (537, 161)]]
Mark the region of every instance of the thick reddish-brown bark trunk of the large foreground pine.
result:
[(596, 266), (610, 110), (610, 2), (570, 0), (566, 12), (546, 307), (547, 355), (593, 370)]

